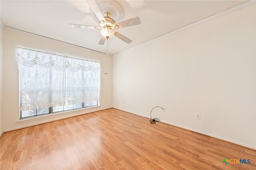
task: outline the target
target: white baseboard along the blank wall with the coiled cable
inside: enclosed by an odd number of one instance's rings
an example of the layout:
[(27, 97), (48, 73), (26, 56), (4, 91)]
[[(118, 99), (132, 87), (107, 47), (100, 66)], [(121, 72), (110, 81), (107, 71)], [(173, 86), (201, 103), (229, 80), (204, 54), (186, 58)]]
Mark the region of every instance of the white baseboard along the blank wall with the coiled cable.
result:
[[(117, 107), (113, 107), (114, 109), (118, 109), (118, 110), (121, 110), (121, 111), (125, 111), (125, 112), (128, 112), (128, 113), (132, 113), (134, 115), (139, 115), (139, 116), (142, 116), (142, 117), (146, 117), (148, 119), (150, 119), (149, 116), (145, 116), (145, 115), (140, 115), (138, 113), (134, 113), (134, 112), (131, 112), (131, 111), (127, 111), (127, 110), (124, 110), (124, 109), (120, 109), (120, 108), (117, 108)], [(247, 148), (252, 148), (252, 149), (256, 149), (256, 147), (253, 147), (253, 146), (248, 146), (247, 144), (244, 144), (244, 143), (241, 143), (241, 142), (237, 142), (237, 141), (234, 141), (234, 140), (230, 140), (230, 139), (227, 139), (227, 138), (223, 138), (223, 137), (220, 137), (220, 136), (217, 136), (217, 135), (214, 135), (214, 134), (209, 134), (207, 132), (202, 132), (200, 130), (195, 130), (195, 129), (192, 129), (192, 128), (188, 128), (188, 127), (184, 127), (184, 126), (181, 126), (181, 125), (176, 125), (174, 123), (170, 123), (170, 122), (166, 122), (166, 121), (161, 121), (160, 122), (163, 122), (163, 123), (166, 123), (168, 125), (172, 125), (172, 126), (176, 126), (176, 127), (180, 127), (180, 128), (184, 128), (184, 129), (187, 129), (187, 130), (191, 130), (193, 132), (197, 132), (197, 133), (201, 133), (201, 134), (205, 134), (207, 136), (212, 136), (214, 138), (218, 138), (218, 139), (221, 139), (221, 140), (225, 140), (227, 142), (231, 142), (231, 143), (234, 143), (234, 144), (238, 144), (238, 145), (241, 145), (241, 146), (245, 146)]]

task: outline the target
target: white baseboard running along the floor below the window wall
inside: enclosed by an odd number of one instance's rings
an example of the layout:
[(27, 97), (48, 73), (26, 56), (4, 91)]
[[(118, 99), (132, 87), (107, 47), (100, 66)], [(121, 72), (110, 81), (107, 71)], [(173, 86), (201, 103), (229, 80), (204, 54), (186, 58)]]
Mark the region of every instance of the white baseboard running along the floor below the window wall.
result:
[[(96, 109), (96, 110), (94, 110), (94, 111), (92, 111), (92, 112), (102, 111), (102, 110), (106, 110), (106, 109), (110, 109), (110, 108), (112, 108), (112, 107), (100, 108), (100, 109)], [(92, 113), (92, 112), (88, 112), (88, 113)], [(35, 125), (40, 125), (40, 124), (48, 123), (48, 122), (52, 122), (52, 121), (58, 121), (58, 120), (60, 120), (60, 119), (66, 119), (66, 118), (69, 118), (69, 117), (74, 117), (74, 116), (84, 115), (84, 114), (87, 114), (87, 113), (77, 113), (77, 114), (72, 114), (72, 115), (66, 115), (65, 117), (56, 118), (56, 119), (51, 119), (51, 120), (43, 121), (43, 122), (40, 122), (40, 123), (34, 123), (34, 124), (30, 124), (30, 125), (24, 125), (24, 126), (20, 126), (20, 127), (16, 127), (16, 128), (9, 128), (9, 129), (3, 130), (2, 132), (9, 132), (9, 131), (18, 130), (18, 129), (21, 129), (21, 128), (32, 127), (32, 126), (35, 126)]]

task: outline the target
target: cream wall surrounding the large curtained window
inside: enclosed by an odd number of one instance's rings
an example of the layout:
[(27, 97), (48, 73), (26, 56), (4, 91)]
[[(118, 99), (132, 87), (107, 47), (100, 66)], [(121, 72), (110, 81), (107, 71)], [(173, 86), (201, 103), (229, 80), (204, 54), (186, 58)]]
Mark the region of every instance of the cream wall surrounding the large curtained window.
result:
[[(56, 117), (40, 119), (19, 124), (19, 71), (16, 63), (16, 47), (25, 47), (39, 51), (48, 51), (71, 57), (88, 59), (101, 62), (101, 100), (100, 107), (95, 109), (83, 109), (76, 112), (71, 111), (68, 115), (58, 115)], [(71, 47), (62, 43), (52, 42), (43, 38), (14, 32), (3, 29), (3, 93), (2, 93), (2, 130), (11, 130), (53, 121), (77, 114), (89, 113), (112, 107), (112, 56), (102, 53), (87, 51), (84, 49)], [(104, 73), (108, 73), (104, 75)], [(107, 103), (106, 103), (107, 100)]]

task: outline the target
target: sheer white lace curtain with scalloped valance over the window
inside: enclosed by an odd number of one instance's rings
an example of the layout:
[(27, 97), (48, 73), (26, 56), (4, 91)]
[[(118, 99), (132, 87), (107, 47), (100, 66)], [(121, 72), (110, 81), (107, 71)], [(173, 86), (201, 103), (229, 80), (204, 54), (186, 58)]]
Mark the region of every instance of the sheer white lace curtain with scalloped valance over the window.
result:
[(17, 48), (20, 110), (100, 99), (100, 63)]

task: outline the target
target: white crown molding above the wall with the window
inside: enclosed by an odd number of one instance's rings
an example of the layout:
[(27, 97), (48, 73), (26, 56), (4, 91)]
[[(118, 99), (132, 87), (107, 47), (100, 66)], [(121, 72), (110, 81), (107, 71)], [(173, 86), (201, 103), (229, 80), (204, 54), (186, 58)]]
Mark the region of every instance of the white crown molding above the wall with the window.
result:
[[(36, 37), (36, 38), (41, 38), (41, 39), (48, 40), (48, 41), (55, 42), (55, 43), (60, 43), (60, 44), (68, 45), (68, 46), (70, 46), (70, 47), (75, 47), (75, 48), (82, 49), (82, 50), (85, 50), (85, 51), (90, 51), (90, 52), (94, 52), (94, 53), (100, 53), (100, 54), (105, 54), (105, 55), (107, 55), (106, 53), (103, 53), (103, 52), (100, 52), (100, 51), (96, 51), (96, 50), (93, 50), (93, 49), (89, 49), (89, 48), (82, 47), (82, 46), (75, 45), (75, 44), (68, 43), (68, 42), (63, 42), (63, 41), (56, 40), (56, 39), (53, 39), (53, 38), (41, 36), (41, 35), (34, 34), (34, 33), (31, 33), (31, 32), (26, 32), (26, 31), (19, 30), (19, 29), (16, 29), (16, 28), (4, 26), (3, 29), (4, 29), (4, 30), (14, 31), (14, 32), (19, 32), (19, 33), (22, 33), (22, 34), (26, 34), (26, 35), (29, 35), (29, 36), (33, 36), (33, 37)], [(112, 55), (108, 54), (107, 56), (112, 56)]]

